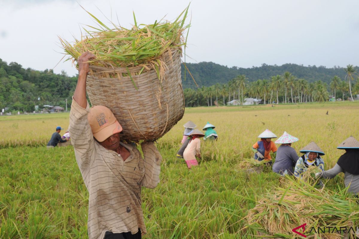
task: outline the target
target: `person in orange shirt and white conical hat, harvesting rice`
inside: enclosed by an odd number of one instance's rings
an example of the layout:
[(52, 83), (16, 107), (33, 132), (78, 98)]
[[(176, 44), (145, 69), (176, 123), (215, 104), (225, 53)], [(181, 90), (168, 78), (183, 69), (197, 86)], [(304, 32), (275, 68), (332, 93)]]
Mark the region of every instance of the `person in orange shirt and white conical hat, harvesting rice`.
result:
[(271, 132), (269, 129), (264, 130), (258, 138), (261, 140), (253, 144), (252, 150), (254, 152), (254, 158), (258, 161), (266, 161), (268, 163), (272, 163), (272, 158), (270, 157), (270, 152), (277, 152), (277, 147), (272, 142), (272, 138), (277, 138), (277, 136)]

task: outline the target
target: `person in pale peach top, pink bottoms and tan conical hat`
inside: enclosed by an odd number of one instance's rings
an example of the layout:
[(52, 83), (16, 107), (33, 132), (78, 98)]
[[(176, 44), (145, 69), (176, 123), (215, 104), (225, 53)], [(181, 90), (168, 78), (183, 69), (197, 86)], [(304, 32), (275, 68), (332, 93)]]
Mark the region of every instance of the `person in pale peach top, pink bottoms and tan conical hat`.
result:
[(198, 165), (196, 156), (198, 158), (201, 157), (201, 140), (199, 138), (204, 137), (204, 134), (198, 129), (195, 129), (190, 133), (189, 137), (191, 140), (188, 142), (188, 145), (183, 152), (183, 158), (187, 163), (187, 167), (192, 168), (192, 166)]

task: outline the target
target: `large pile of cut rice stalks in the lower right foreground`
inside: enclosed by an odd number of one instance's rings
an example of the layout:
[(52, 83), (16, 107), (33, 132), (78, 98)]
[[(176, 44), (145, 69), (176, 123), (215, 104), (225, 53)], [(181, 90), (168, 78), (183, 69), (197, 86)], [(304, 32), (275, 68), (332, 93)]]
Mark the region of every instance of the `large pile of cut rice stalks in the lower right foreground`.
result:
[[(309, 180), (314, 169), (303, 175)], [(316, 234), (310, 229), (323, 226), (346, 226), (350, 228), (358, 220), (358, 204), (344, 190), (338, 193), (314, 188), (311, 182), (298, 181), (286, 176), (284, 186), (275, 187), (265, 194), (249, 211), (247, 226), (253, 233), (267, 234), (281, 238), (296, 238), (292, 229), (307, 224), (305, 234), (321, 238), (341, 238), (340, 234)], [(313, 179), (313, 178), (312, 178)], [(311, 179), (311, 180), (312, 180)], [(354, 229), (356, 230), (356, 228)], [(300, 231), (302, 232), (302, 231)], [(309, 233), (310, 232), (310, 233)], [(352, 233), (352, 231), (351, 231)]]

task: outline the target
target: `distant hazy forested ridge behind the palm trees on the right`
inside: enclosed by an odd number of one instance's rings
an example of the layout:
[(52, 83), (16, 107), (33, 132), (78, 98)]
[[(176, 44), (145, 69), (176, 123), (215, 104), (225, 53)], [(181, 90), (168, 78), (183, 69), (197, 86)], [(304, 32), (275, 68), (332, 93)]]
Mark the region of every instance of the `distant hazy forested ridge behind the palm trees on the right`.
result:
[[(191, 72), (198, 86), (211, 86), (215, 83), (227, 83), (238, 75), (245, 75), (248, 81), (256, 81), (258, 79), (270, 79), (272, 76), (283, 75), (289, 71), (297, 78), (303, 78), (309, 82), (321, 80), (330, 83), (334, 76), (339, 76), (342, 80), (345, 78), (343, 67), (326, 68), (325, 66), (302, 66), (297, 64), (284, 64), (282, 66), (270, 66), (262, 64), (260, 67), (239, 68), (222, 66), (213, 62), (186, 63), (188, 70)], [(185, 67), (182, 64), (182, 85), (183, 88), (196, 88), (191, 76), (186, 72), (186, 81), (184, 81)], [(355, 67), (358, 72), (359, 67)]]

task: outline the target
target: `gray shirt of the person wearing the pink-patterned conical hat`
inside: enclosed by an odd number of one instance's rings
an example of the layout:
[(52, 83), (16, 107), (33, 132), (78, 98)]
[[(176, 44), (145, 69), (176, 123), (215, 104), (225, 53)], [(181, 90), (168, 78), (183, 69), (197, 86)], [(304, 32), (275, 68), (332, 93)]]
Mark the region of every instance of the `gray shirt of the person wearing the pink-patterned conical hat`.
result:
[(295, 149), (289, 145), (280, 145), (275, 156), (275, 161), (272, 166), (272, 171), (283, 174), (285, 170), (291, 175), (293, 174), (293, 167), (297, 163), (299, 156)]

